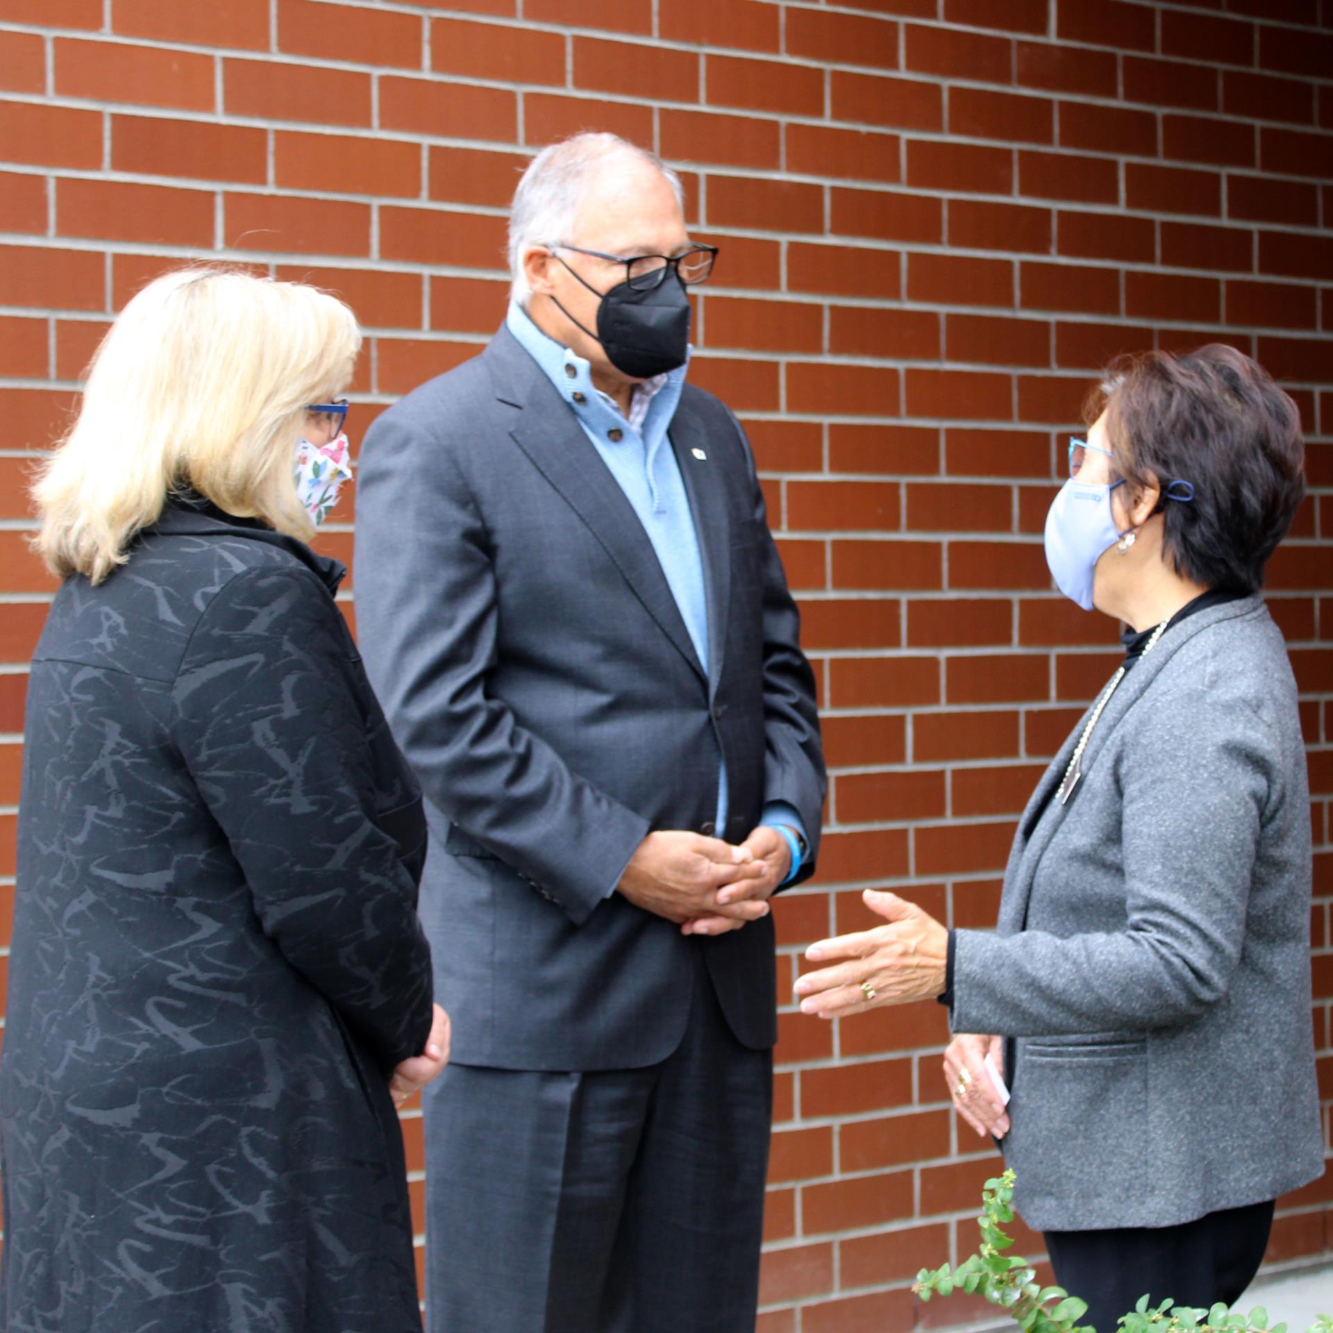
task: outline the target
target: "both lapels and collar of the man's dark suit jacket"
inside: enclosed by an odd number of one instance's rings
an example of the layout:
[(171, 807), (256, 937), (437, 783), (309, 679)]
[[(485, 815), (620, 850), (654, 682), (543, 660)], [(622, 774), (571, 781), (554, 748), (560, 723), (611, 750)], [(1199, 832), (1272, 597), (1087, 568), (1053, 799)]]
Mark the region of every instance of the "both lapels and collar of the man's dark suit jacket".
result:
[[(483, 352), (483, 361), (496, 399), (517, 409), (509, 428), (513, 441), (601, 543), (663, 633), (706, 682), (708, 676), (689, 640), (653, 545), (633, 505), (625, 499), (577, 417), (508, 328), (501, 327)], [(682, 400), (672, 421), (670, 443), (685, 481), (704, 557), (712, 690), (721, 674), (725, 639), (721, 629), (725, 625), (729, 596), (730, 535), (718, 484), (706, 487), (697, 475), (698, 465), (690, 451), (702, 448), (701, 441), (702, 424)]]

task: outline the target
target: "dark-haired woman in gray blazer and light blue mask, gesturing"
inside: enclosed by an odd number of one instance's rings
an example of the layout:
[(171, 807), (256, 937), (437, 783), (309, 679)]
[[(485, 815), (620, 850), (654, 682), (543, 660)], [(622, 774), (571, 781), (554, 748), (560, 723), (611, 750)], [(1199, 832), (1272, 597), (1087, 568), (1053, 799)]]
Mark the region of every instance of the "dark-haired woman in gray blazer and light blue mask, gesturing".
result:
[(1305, 750), (1258, 596), (1302, 496), (1296, 407), (1206, 347), (1122, 367), (1090, 415), (1046, 557), (1130, 627), (1125, 661), (1028, 802), (998, 932), (868, 893), (889, 924), (813, 945), (797, 992), (822, 1017), (950, 1006), (954, 1105), (1109, 1330), (1145, 1292), (1234, 1301), (1324, 1153)]

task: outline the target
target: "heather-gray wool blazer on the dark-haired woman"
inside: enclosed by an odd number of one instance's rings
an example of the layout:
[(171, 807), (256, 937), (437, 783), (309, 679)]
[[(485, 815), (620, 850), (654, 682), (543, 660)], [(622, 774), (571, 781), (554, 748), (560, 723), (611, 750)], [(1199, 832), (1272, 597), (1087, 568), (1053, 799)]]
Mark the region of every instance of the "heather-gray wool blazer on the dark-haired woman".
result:
[(1016, 1204), (1030, 1226), (1090, 1230), (1274, 1198), (1324, 1169), (1282, 636), (1260, 597), (1168, 631), (1061, 805), (1084, 721), (1020, 821), (998, 932), (956, 938), (954, 1030), (1017, 1038)]

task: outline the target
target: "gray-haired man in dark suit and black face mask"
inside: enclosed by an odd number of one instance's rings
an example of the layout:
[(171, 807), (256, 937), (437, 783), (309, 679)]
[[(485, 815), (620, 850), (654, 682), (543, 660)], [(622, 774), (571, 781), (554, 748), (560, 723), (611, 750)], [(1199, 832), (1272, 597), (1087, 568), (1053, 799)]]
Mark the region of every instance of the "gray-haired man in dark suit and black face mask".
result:
[(685, 381), (714, 253), (652, 155), (545, 149), (504, 327), (361, 455), (360, 641), (455, 1025), (433, 1333), (753, 1329), (768, 898), (813, 872), (825, 778), (754, 460)]

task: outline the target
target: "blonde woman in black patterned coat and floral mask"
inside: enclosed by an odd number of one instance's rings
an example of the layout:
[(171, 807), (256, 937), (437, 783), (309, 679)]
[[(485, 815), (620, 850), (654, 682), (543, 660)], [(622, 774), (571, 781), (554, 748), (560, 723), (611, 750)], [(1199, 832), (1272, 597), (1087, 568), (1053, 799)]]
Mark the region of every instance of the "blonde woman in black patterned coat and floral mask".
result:
[(9, 1333), (420, 1329), (395, 1101), (439, 1073), (425, 825), (305, 543), (351, 311), (169, 273), (36, 487), (0, 1061)]

